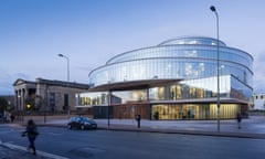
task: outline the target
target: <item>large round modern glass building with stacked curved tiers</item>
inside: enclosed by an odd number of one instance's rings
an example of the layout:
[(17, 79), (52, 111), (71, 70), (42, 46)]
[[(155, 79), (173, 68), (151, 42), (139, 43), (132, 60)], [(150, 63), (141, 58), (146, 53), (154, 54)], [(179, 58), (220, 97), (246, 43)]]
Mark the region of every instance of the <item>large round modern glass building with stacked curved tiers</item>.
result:
[[(218, 59), (219, 44), (219, 59)], [(212, 38), (188, 36), (118, 54), (93, 70), (78, 106), (94, 117), (215, 119), (218, 60), (221, 119), (245, 114), (253, 93), (253, 57)]]

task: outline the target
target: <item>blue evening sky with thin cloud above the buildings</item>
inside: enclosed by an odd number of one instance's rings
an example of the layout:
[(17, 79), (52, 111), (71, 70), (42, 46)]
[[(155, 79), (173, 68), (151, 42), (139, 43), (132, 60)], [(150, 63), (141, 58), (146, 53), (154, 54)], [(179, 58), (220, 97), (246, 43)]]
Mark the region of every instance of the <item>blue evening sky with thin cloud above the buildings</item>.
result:
[(265, 93), (264, 0), (0, 0), (0, 95), (17, 78), (88, 83), (112, 56), (187, 35), (216, 38), (254, 57), (254, 93)]

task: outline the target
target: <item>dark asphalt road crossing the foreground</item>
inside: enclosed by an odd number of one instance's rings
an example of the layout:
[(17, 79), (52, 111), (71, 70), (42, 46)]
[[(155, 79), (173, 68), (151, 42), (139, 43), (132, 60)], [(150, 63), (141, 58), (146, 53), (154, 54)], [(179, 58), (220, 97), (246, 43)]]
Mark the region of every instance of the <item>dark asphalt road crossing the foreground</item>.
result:
[[(0, 125), (0, 140), (26, 147), (21, 126)], [(263, 159), (264, 139), (39, 127), (38, 150), (73, 159)]]

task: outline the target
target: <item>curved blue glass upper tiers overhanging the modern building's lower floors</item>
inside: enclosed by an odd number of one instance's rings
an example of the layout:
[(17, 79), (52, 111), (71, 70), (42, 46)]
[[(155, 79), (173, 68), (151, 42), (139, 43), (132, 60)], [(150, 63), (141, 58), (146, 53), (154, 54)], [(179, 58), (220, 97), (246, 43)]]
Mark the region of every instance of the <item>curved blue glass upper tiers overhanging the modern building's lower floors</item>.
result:
[[(208, 41), (206, 38), (190, 38), (190, 41)], [(180, 39), (177, 40), (181, 42)], [(187, 39), (183, 40), (184, 42)], [(94, 86), (109, 82), (159, 78), (198, 78), (216, 75), (216, 44), (171, 44), (135, 50), (119, 54), (106, 65), (91, 72)], [(215, 40), (216, 41), (216, 40)], [(172, 41), (171, 41), (172, 42)], [(221, 42), (220, 42), (221, 43)], [(169, 45), (167, 45), (169, 44)], [(233, 74), (252, 86), (253, 57), (241, 50), (220, 45), (221, 74)]]

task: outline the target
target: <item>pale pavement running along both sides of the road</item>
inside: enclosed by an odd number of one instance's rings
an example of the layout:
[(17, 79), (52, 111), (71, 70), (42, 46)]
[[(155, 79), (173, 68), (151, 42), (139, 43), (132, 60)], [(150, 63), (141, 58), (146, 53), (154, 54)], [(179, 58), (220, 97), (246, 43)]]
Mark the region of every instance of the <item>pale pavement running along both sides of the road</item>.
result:
[[(38, 126), (65, 127), (67, 118), (36, 118)], [(118, 131), (140, 131), (160, 134), (183, 134), (233, 138), (265, 139), (265, 116), (250, 116), (243, 119), (241, 128), (236, 120), (220, 120), (218, 130), (216, 120), (146, 120), (140, 121), (140, 127), (135, 119), (95, 119), (98, 129)], [(22, 121), (15, 124), (24, 125)], [(15, 146), (0, 140), (0, 159), (65, 159), (60, 156), (36, 151), (33, 156), (24, 147)]]

